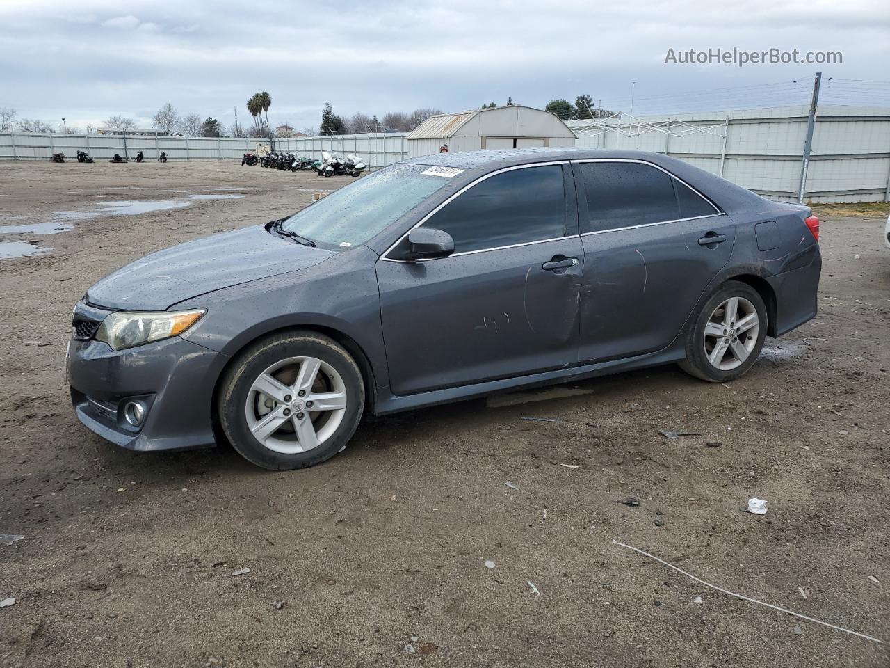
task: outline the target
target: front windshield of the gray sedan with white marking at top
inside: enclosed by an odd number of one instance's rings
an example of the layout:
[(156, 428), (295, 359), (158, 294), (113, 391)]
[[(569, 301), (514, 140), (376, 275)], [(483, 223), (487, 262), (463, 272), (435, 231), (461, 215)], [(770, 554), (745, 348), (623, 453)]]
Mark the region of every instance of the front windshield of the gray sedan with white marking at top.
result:
[(426, 165), (386, 167), (295, 213), (281, 229), (344, 248), (364, 243), (449, 183), (435, 171)]

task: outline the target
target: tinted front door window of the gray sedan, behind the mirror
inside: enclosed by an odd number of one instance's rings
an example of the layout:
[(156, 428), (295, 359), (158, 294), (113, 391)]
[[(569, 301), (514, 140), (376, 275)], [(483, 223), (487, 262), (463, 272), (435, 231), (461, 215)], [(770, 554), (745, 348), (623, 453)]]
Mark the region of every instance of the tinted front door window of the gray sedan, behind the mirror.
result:
[(562, 167), (524, 167), (490, 176), (424, 224), (448, 232), (456, 253), (565, 235)]

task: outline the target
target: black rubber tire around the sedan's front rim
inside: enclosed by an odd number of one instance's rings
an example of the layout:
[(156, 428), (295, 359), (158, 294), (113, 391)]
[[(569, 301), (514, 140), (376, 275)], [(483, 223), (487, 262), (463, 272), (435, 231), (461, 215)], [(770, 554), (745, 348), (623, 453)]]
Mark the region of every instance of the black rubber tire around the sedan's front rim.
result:
[[(264, 370), (289, 357), (309, 356), (330, 364), (344, 380), (346, 408), (336, 431), (307, 452), (286, 454), (260, 443), (247, 425), (248, 393)], [(342, 346), (313, 331), (290, 330), (248, 346), (223, 375), (218, 413), (223, 432), (246, 460), (276, 471), (305, 468), (333, 457), (346, 447), (359, 426), (365, 405), (365, 386), (358, 365)]]

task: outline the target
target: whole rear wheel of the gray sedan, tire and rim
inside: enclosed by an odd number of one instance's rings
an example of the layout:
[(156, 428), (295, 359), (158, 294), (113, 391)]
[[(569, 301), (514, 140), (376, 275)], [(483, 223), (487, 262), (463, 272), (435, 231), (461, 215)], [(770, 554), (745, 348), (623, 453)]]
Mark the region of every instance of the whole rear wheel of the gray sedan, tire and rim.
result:
[(764, 346), (767, 317), (756, 289), (741, 281), (726, 281), (696, 316), (680, 367), (711, 383), (739, 378), (754, 365)]

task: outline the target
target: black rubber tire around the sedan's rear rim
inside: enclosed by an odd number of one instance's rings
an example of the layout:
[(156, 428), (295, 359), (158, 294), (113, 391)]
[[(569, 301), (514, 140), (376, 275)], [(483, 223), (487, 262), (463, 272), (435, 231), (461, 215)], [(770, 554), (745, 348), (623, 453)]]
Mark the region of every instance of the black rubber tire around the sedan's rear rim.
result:
[[(757, 333), (756, 338), (751, 337), (754, 339), (752, 341), (753, 347), (747, 359), (733, 369), (723, 370), (708, 361), (705, 348), (705, 328), (716, 308), (730, 297), (742, 297), (754, 306), (757, 314)], [(739, 378), (747, 373), (756, 363), (757, 357), (764, 346), (767, 324), (768, 314), (766, 305), (764, 304), (763, 297), (760, 297), (760, 293), (756, 289), (749, 286), (748, 283), (741, 281), (724, 282), (713, 295), (708, 297), (708, 300), (701, 306), (699, 313), (696, 314), (692, 330), (686, 337), (686, 359), (679, 363), (680, 368), (691, 376), (707, 380), (710, 383), (725, 383)], [(740, 335), (739, 338), (741, 340), (742, 336)]]

